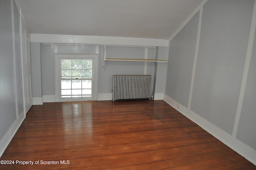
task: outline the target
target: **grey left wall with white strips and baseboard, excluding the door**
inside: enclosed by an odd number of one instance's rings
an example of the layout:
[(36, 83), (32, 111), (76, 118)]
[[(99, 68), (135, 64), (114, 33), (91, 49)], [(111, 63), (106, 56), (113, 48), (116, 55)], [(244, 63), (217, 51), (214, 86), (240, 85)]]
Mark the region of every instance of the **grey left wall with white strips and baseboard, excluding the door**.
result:
[(20, 14), (12, 0), (0, 1), (0, 156), (25, 118)]

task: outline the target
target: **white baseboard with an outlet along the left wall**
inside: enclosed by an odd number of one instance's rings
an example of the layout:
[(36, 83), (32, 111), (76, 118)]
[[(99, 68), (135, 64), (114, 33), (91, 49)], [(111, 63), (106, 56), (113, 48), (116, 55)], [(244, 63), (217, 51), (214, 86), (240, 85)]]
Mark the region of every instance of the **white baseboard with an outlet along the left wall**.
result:
[(22, 113), (19, 114), (20, 116), (16, 118), (13, 122), (12, 126), (7, 130), (4, 134), (3, 138), (0, 140), (0, 158), (4, 151), (6, 150), (7, 146), (10, 144), (12, 138), (16, 134), (17, 130), (19, 129), (20, 125), (22, 124), (23, 120), (25, 119), (24, 110)]

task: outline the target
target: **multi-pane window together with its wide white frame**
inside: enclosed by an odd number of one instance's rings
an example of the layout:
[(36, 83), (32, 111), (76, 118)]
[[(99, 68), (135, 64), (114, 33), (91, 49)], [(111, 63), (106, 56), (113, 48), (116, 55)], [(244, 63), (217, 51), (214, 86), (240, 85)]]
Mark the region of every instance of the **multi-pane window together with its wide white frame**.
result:
[(97, 100), (98, 54), (55, 54), (57, 101)]

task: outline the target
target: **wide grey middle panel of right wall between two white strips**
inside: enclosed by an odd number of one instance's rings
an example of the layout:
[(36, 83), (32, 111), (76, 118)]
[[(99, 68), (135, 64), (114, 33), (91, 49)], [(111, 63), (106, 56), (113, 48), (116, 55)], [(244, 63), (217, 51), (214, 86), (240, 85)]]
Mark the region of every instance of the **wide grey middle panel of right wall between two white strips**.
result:
[(203, 8), (191, 110), (232, 134), (253, 0), (208, 0)]

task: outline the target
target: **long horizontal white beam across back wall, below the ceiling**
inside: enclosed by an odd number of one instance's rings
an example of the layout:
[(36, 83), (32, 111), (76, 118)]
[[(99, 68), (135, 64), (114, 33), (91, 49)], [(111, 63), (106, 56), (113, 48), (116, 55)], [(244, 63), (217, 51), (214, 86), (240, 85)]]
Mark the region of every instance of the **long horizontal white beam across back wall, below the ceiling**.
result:
[(31, 42), (66, 44), (102, 44), (124, 46), (168, 46), (168, 40), (153, 38), (78, 36), (61, 34), (30, 34)]

